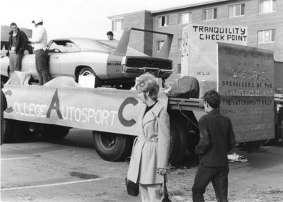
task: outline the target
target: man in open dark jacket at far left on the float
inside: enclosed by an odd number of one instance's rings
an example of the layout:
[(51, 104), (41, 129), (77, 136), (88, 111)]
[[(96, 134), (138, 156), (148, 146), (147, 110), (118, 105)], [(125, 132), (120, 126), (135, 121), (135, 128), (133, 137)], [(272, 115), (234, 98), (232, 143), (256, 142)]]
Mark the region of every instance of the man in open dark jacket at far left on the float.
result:
[(11, 23), (9, 32), (9, 66), (10, 75), (14, 71), (21, 71), (21, 63), (23, 59), (23, 52), (25, 51), (28, 44), (28, 37), (25, 32), (20, 30), (16, 23)]

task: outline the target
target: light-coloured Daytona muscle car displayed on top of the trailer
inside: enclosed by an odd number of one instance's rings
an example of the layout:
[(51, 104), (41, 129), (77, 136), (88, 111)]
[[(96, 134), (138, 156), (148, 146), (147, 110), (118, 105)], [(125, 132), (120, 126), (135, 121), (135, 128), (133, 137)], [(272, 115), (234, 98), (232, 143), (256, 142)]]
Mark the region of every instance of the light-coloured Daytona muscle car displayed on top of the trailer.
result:
[[(119, 85), (129, 89), (142, 73), (149, 71), (163, 80), (171, 75), (173, 62), (170, 59), (149, 57), (128, 47), (128, 40), (129, 36), (122, 36), (120, 42), (88, 38), (51, 40), (47, 44), (51, 76), (71, 76), (77, 82), (83, 78), (81, 76), (94, 76), (95, 88)], [(2, 58), (1, 76), (9, 76), (8, 65), (8, 57)], [(38, 80), (35, 54), (24, 55), (21, 71), (29, 72), (33, 80)]]

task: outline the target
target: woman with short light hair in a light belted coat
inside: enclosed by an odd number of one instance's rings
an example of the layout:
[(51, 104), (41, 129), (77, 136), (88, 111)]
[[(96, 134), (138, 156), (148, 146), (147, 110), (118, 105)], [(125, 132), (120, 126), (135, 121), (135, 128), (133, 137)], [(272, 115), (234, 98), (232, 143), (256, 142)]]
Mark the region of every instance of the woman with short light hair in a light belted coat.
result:
[(145, 104), (137, 121), (127, 179), (139, 183), (141, 201), (161, 201), (170, 149), (170, 122), (166, 108), (158, 101), (156, 78), (146, 73), (137, 79), (137, 96)]

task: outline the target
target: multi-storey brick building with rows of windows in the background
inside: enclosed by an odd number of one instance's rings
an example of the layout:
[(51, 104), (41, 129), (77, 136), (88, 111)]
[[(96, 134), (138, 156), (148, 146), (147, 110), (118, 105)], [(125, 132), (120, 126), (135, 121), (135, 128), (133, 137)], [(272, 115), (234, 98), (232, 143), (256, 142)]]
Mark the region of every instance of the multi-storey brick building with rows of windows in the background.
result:
[[(199, 4), (139, 11), (108, 17), (112, 31), (119, 40), (122, 30), (140, 28), (174, 35), (169, 58), (174, 73), (167, 82), (180, 78), (183, 28), (192, 24), (241, 25), (248, 27), (248, 46), (274, 51), (275, 61), (283, 62), (283, 1), (282, 0), (214, 0)], [(156, 56), (164, 35), (132, 31), (129, 46)]]

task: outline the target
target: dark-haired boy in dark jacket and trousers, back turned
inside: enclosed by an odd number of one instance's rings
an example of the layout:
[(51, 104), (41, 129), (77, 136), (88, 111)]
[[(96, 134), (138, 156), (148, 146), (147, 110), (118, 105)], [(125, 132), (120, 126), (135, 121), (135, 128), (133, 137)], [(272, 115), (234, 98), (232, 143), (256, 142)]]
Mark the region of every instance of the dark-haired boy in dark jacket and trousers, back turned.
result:
[(235, 134), (231, 120), (219, 112), (220, 95), (215, 90), (204, 94), (204, 109), (207, 112), (199, 121), (200, 142), (195, 151), (200, 166), (192, 186), (192, 200), (204, 201), (204, 192), (212, 182), (217, 201), (228, 201), (227, 153), (235, 145)]

